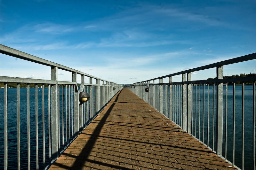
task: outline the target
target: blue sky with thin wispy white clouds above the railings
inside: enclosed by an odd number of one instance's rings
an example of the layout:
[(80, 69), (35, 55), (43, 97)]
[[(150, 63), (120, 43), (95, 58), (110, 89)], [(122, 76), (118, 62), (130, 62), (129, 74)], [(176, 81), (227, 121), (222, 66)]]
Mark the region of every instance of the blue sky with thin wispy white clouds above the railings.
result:
[[(116, 83), (251, 54), (255, 40), (255, 0), (0, 0), (0, 44)], [(0, 61), (2, 76), (50, 80), (49, 67), (2, 54)], [(256, 61), (224, 66), (224, 75), (241, 72), (256, 73)], [(214, 69), (192, 74), (209, 77)]]

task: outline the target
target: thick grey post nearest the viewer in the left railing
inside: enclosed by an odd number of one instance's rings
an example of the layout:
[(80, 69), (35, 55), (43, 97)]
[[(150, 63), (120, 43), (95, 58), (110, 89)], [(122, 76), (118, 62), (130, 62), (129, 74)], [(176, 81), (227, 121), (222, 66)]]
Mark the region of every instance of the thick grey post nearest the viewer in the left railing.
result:
[(51, 80), (56, 81), (51, 85), (51, 124), (52, 124), (52, 161), (59, 157), (58, 137), (58, 67), (52, 67)]

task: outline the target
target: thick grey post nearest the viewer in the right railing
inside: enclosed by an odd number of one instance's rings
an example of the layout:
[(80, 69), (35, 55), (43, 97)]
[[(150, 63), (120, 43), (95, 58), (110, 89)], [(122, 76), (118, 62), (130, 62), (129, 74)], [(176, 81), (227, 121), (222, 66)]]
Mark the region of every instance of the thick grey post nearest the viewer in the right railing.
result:
[(223, 82), (219, 82), (219, 79), (223, 79), (223, 66), (217, 66), (217, 151), (218, 156), (222, 156), (222, 136), (223, 136)]

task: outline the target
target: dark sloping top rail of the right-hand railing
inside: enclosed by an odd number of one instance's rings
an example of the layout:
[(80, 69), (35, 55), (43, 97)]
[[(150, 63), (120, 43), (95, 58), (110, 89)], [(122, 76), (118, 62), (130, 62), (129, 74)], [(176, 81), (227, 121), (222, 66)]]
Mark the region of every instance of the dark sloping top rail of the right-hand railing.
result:
[[(147, 82), (147, 81), (151, 81), (151, 80), (162, 79), (162, 78), (171, 77), (171, 76), (175, 76), (175, 75), (191, 73), (191, 72), (195, 72), (195, 71), (215, 68), (217, 66), (225, 66), (225, 65), (239, 63), (239, 62), (243, 62), (243, 61), (249, 61), (249, 60), (253, 60), (253, 59), (256, 59), (256, 53), (252, 53), (252, 54), (248, 54), (248, 55), (245, 55), (245, 56), (241, 56), (241, 57), (237, 57), (237, 58), (232, 58), (232, 59), (220, 61), (220, 62), (209, 64), (209, 65), (206, 65), (206, 66), (200, 66), (200, 67), (184, 70), (184, 71), (181, 71), (181, 72), (178, 72), (178, 73), (168, 74), (168, 75), (165, 75), (165, 76), (157, 77), (157, 78), (146, 80), (146, 81), (139, 81), (139, 82), (135, 82), (135, 83)], [(135, 84), (135, 83), (133, 83), (133, 84)]]

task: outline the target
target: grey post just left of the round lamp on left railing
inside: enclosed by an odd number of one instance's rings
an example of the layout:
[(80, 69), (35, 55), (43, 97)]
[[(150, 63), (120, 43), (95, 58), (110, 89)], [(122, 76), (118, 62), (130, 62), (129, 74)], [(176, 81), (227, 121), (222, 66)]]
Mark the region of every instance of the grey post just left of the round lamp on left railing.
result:
[[(76, 82), (77, 73), (73, 72), (72, 74), (72, 81)], [(75, 130), (75, 136), (78, 136), (79, 134), (79, 98), (78, 98), (78, 87), (77, 84), (75, 85), (74, 89), (74, 130)]]

